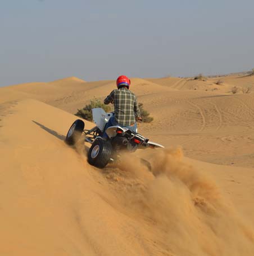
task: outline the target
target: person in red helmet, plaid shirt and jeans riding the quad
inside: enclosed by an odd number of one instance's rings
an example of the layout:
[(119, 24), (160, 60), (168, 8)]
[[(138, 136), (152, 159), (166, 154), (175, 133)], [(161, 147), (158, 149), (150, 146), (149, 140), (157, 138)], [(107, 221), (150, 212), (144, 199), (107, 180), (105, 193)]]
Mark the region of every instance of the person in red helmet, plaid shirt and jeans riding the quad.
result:
[[(142, 121), (136, 96), (129, 90), (130, 80), (126, 76), (120, 76), (116, 80), (117, 90), (111, 91), (104, 100), (104, 104), (112, 103), (115, 108), (115, 115), (108, 120), (105, 131), (110, 126), (121, 126), (137, 131), (136, 120)], [(107, 137), (106, 132), (103, 137)]]

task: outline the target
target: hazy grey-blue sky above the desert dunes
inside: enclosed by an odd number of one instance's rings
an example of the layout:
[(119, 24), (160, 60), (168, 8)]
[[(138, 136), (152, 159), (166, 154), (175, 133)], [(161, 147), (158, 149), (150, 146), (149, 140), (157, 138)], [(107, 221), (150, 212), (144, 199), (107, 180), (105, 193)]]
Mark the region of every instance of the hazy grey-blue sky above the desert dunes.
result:
[(0, 86), (254, 68), (253, 0), (1, 0)]

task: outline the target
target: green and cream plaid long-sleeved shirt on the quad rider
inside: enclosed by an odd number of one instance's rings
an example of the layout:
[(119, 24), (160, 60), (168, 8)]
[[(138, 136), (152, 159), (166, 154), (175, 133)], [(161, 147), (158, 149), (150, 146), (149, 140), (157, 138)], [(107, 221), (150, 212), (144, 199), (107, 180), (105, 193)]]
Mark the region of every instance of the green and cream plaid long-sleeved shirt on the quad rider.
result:
[(140, 117), (136, 96), (125, 87), (111, 91), (104, 103), (109, 104), (111, 102), (114, 102), (115, 120), (120, 125), (133, 125), (135, 117)]

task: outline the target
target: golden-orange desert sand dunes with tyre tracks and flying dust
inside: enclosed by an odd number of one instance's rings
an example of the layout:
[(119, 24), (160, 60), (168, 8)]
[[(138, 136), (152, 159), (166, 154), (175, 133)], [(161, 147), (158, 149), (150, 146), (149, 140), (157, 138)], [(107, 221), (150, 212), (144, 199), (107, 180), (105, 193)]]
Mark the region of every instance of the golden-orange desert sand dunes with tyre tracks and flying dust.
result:
[(166, 149), (104, 170), (87, 163), (89, 144), (64, 139), (76, 109), (114, 81), (1, 87), (0, 255), (253, 255), (254, 94), (231, 92), (251, 85), (131, 78), (154, 117), (139, 132)]

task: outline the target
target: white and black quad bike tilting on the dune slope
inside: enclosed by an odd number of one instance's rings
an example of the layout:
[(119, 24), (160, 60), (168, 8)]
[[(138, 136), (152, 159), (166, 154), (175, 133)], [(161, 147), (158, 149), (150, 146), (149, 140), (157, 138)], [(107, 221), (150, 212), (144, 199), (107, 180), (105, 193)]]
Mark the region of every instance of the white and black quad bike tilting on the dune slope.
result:
[(164, 148), (137, 132), (121, 126), (108, 127), (106, 130), (108, 138), (102, 138), (106, 123), (114, 112), (106, 113), (102, 108), (93, 108), (92, 113), (93, 121), (96, 123), (95, 127), (86, 130), (84, 122), (78, 119), (72, 123), (65, 138), (68, 145), (74, 145), (83, 139), (92, 144), (88, 152), (90, 165), (103, 168), (108, 162), (118, 160), (123, 151), (134, 152), (139, 148)]

